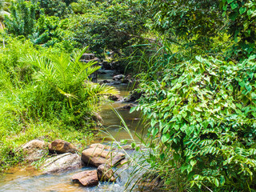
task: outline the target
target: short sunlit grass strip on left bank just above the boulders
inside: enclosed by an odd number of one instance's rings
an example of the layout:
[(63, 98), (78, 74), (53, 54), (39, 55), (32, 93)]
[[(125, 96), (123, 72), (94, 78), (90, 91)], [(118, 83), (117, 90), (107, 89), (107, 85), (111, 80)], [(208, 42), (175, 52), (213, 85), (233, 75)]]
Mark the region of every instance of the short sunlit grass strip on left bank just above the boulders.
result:
[(94, 139), (90, 130), (78, 130), (74, 126), (66, 126), (61, 121), (54, 122), (16, 122), (1, 119), (0, 126), (0, 170), (6, 170), (23, 160), (21, 146), (33, 139), (51, 142), (62, 139), (73, 143), (78, 149), (87, 146)]

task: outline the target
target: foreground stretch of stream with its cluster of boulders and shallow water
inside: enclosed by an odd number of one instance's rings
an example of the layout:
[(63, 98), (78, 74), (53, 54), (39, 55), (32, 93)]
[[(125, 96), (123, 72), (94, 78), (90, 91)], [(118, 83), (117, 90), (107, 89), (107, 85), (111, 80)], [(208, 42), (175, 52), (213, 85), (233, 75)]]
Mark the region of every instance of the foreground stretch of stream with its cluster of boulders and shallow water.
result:
[(38, 170), (28, 166), (10, 169), (0, 177), (0, 191), (125, 191), (134, 170), (130, 156), (135, 150), (128, 145), (95, 143), (79, 153), (60, 139), (50, 143), (33, 140), (22, 150), (26, 161), (44, 161), (34, 165)]

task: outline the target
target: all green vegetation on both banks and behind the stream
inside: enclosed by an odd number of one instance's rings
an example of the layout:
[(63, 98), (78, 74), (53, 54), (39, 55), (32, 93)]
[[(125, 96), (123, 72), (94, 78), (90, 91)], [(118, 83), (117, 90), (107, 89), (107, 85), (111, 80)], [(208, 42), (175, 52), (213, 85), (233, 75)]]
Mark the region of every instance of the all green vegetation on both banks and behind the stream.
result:
[(90, 82), (87, 49), (112, 53), (140, 82), (131, 111), (149, 122), (145, 179), (171, 191), (256, 190), (255, 1), (17, 0), (0, 11), (3, 168), (32, 138), (93, 138), (102, 96), (117, 91)]

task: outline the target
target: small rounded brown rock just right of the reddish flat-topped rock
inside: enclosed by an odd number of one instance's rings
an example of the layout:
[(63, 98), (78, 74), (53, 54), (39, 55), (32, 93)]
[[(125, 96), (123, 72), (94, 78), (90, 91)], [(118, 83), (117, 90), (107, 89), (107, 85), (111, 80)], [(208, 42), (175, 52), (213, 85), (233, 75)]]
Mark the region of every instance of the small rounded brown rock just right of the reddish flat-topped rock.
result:
[(111, 167), (107, 164), (98, 166), (97, 169), (98, 173), (98, 180), (102, 182), (114, 182), (114, 171), (111, 169)]

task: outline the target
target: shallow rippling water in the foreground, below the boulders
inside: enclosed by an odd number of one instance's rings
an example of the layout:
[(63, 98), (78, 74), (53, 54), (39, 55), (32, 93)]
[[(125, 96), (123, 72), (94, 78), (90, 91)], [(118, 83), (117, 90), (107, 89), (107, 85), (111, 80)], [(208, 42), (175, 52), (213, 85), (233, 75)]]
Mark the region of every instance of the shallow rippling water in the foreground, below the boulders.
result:
[[(14, 167), (8, 173), (0, 176), (0, 191), (45, 191), (45, 192), (64, 192), (64, 191), (125, 191), (125, 183), (131, 170), (121, 173), (122, 179), (117, 182), (99, 182), (98, 186), (84, 187), (71, 181), (71, 176), (84, 170), (94, 170), (94, 167), (83, 167), (78, 170), (70, 170), (60, 174), (40, 174), (37, 170), (30, 168)], [(121, 170), (118, 170), (121, 172)], [(137, 190), (134, 190), (137, 191)]]

